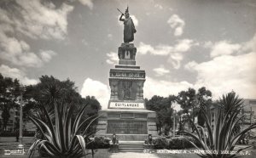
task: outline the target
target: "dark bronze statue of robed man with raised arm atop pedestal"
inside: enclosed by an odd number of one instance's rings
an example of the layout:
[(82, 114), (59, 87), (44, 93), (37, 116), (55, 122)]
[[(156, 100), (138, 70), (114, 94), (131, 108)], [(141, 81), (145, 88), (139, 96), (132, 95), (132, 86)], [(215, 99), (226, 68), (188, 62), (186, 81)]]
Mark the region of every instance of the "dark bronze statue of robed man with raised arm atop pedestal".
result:
[[(125, 15), (125, 19), (122, 17)], [(124, 21), (124, 42), (132, 42), (134, 40), (134, 33), (136, 33), (135, 26), (133, 24), (133, 21), (130, 17), (128, 7), (125, 10), (125, 14), (121, 14), (120, 21)]]

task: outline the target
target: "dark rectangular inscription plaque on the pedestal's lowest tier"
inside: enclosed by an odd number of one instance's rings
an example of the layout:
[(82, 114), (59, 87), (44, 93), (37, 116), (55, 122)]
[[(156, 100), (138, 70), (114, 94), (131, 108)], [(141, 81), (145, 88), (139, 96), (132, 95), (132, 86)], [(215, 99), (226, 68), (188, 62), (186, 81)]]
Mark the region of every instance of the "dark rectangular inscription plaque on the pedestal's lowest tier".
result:
[(107, 133), (148, 134), (147, 121), (115, 121), (115, 120), (108, 120)]

